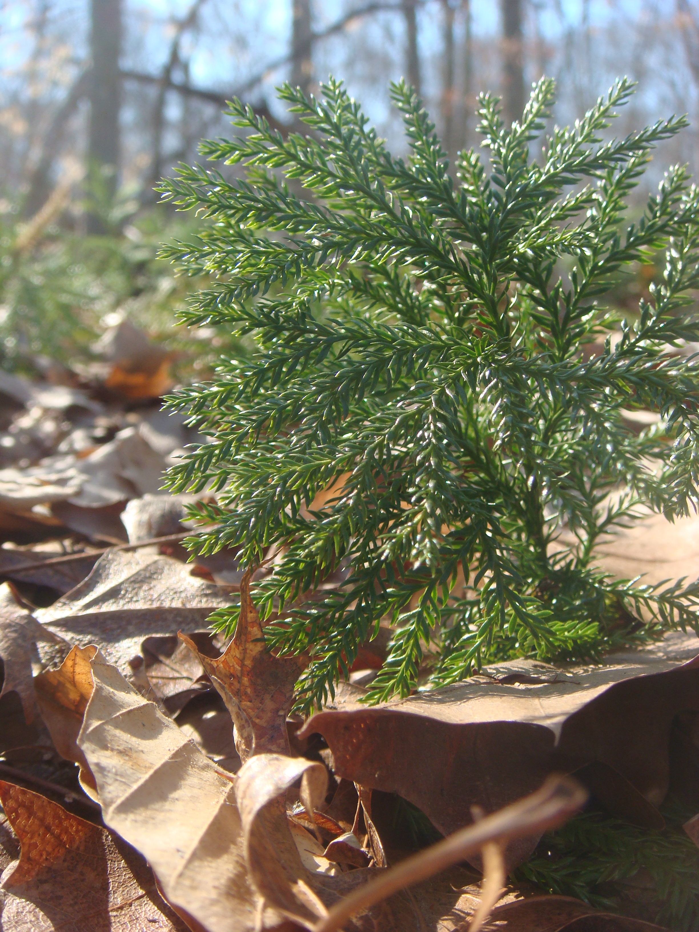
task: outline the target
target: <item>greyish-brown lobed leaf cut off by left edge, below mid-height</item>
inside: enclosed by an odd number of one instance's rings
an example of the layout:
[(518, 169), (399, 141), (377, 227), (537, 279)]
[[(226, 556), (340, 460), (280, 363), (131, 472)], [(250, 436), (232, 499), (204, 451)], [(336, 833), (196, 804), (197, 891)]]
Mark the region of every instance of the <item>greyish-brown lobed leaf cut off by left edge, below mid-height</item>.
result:
[(21, 610), (7, 587), (0, 585), (0, 659), (4, 678), (0, 697), (17, 692), (27, 724), (36, 716), (36, 700), (32, 662), (38, 659), (37, 643), (62, 651), (68, 645), (54, 632), (36, 621), (28, 611)]

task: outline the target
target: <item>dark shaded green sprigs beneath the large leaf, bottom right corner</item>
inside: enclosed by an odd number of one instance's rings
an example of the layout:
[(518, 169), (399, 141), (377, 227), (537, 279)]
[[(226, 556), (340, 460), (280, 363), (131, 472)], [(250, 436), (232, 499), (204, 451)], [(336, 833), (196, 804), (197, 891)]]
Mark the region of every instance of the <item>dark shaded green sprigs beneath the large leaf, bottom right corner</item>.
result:
[(623, 907), (625, 893), (650, 922), (693, 932), (699, 926), (699, 849), (681, 828), (693, 812), (679, 816), (676, 810), (665, 812), (662, 831), (595, 812), (575, 816), (543, 836), (514, 878), (613, 911)]

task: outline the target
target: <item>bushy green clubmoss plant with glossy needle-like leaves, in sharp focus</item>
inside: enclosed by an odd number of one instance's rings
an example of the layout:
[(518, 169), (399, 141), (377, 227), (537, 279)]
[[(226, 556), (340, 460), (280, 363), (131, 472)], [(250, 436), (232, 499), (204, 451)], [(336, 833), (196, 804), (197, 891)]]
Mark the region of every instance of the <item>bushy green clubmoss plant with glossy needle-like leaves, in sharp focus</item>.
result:
[[(170, 485), (217, 493), (197, 513), (216, 523), (199, 552), (238, 547), (243, 567), (275, 555), (255, 600), (270, 647), (311, 652), (300, 707), (322, 704), (382, 618), (397, 633), (373, 700), (413, 689), (431, 642), (441, 684), (495, 658), (595, 657), (696, 624), (696, 583), (612, 582), (595, 565), (596, 544), (642, 509), (673, 518), (699, 500), (699, 370), (667, 352), (699, 340), (699, 195), (678, 167), (624, 220), (653, 147), (686, 125), (603, 142), (631, 93), (619, 81), (544, 139), (551, 80), (512, 127), (482, 96), (489, 163), (461, 153), (454, 182), (404, 83), (406, 159), (341, 83), (319, 100), (284, 86), (308, 135), (284, 138), (236, 101), (243, 131), (201, 151), (241, 177), (183, 167), (163, 183), (211, 220), (165, 250), (214, 279), (185, 321), (256, 343), (171, 399), (212, 443)], [(619, 319), (605, 305), (615, 276), (659, 248), (664, 280)], [(614, 328), (621, 339), (587, 358)], [(662, 421), (637, 435), (628, 408)]]

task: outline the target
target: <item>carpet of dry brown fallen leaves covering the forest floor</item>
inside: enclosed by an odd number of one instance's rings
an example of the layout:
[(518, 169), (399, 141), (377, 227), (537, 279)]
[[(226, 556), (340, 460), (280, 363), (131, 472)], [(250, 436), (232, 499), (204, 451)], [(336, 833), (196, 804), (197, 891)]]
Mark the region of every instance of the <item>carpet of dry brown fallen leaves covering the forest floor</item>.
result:
[[(662, 827), (670, 792), (699, 810), (696, 637), (589, 667), (493, 665), (371, 708), (358, 700), (386, 655), (382, 627), (354, 684), (298, 733), (289, 709), (308, 659), (267, 651), (235, 549), (186, 563), (191, 497), (159, 489), (200, 438), (159, 410), (170, 361), (146, 348), (119, 325), (102, 368), (75, 385), (0, 383), (13, 412), (0, 461), (0, 576), (11, 581), (0, 590), (0, 713), (11, 706), (15, 736), (0, 751), (21, 764), (0, 761), (20, 774), (0, 785), (3, 928), (659, 928), (503, 876), (553, 824), (537, 800), (557, 799), (561, 821), (587, 793), (649, 829)], [(651, 582), (691, 575), (697, 528), (651, 516), (603, 565)], [(226, 645), (207, 618), (238, 591)], [(79, 784), (58, 760), (75, 764)], [(396, 841), (387, 813), (410, 804), (444, 842)], [(513, 828), (512, 813), (532, 806)], [(21, 883), (18, 843), (22, 870), (40, 861)], [(444, 846), (459, 863), (440, 860)], [(466, 859), (485, 870), (482, 886)]]

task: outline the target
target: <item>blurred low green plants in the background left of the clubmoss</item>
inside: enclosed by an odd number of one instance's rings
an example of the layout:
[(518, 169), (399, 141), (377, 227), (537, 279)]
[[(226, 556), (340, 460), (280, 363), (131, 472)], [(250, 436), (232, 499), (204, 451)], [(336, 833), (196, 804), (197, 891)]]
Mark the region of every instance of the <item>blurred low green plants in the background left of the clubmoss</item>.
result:
[(124, 211), (133, 213), (135, 205), (122, 198), (110, 214), (110, 232), (86, 236), (59, 226), (69, 198), (69, 186), (59, 185), (28, 223), (18, 223), (11, 210), (0, 215), (0, 366), (34, 375), (37, 356), (88, 362), (105, 319), (118, 310), (176, 353), (183, 380), (211, 371), (230, 337), (174, 329), (175, 311), (201, 281), (176, 278), (157, 258), (162, 240), (175, 231), (181, 239), (190, 225), (163, 210), (138, 212), (123, 224)]

